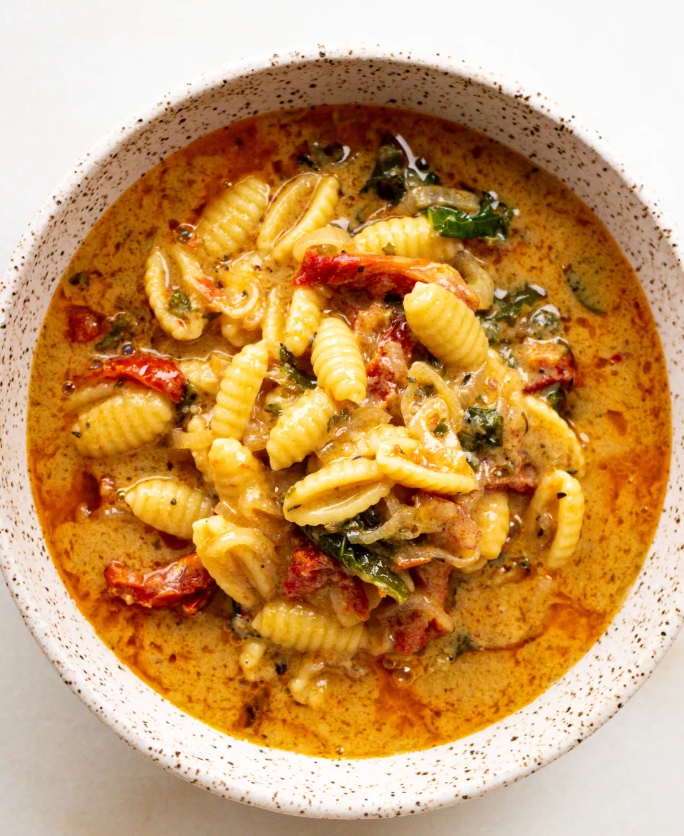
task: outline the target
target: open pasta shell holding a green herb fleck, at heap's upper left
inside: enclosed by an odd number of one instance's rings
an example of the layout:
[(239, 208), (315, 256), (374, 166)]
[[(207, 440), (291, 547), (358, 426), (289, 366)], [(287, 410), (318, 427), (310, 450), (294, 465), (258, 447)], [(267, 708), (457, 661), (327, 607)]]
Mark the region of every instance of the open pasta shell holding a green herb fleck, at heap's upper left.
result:
[(173, 337), (174, 340), (196, 340), (201, 336), (207, 320), (204, 318), (205, 311), (201, 300), (187, 286), (187, 282), (183, 282), (183, 274), (188, 270), (199, 270), (201, 273), (202, 268), (194, 256), (183, 251), (180, 245), (174, 247), (171, 252), (180, 271), (180, 284), (183, 293), (187, 296), (190, 310), (183, 316), (177, 316), (169, 310), (169, 302), (174, 293), (174, 288), (171, 286), (169, 265), (159, 247), (154, 247), (147, 258), (144, 279), (145, 293), (157, 322), (170, 337)]

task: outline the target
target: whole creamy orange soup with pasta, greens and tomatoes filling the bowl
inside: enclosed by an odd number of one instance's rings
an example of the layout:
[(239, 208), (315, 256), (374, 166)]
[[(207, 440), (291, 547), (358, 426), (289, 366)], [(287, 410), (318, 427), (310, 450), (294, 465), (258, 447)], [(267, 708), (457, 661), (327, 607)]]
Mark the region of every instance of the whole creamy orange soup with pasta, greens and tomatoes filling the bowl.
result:
[(33, 362), (51, 554), (137, 675), (326, 757), (529, 703), (636, 578), (670, 444), (648, 304), (510, 149), (395, 109), (268, 114), (88, 234)]

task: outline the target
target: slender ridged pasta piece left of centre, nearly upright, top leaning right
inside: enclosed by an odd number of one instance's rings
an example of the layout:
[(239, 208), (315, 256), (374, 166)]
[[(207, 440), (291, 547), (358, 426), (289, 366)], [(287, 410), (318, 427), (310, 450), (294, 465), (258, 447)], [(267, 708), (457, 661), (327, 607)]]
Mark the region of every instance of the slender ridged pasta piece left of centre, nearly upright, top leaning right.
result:
[(226, 369), (216, 396), (211, 431), (217, 438), (242, 438), (268, 366), (264, 341), (245, 346)]

